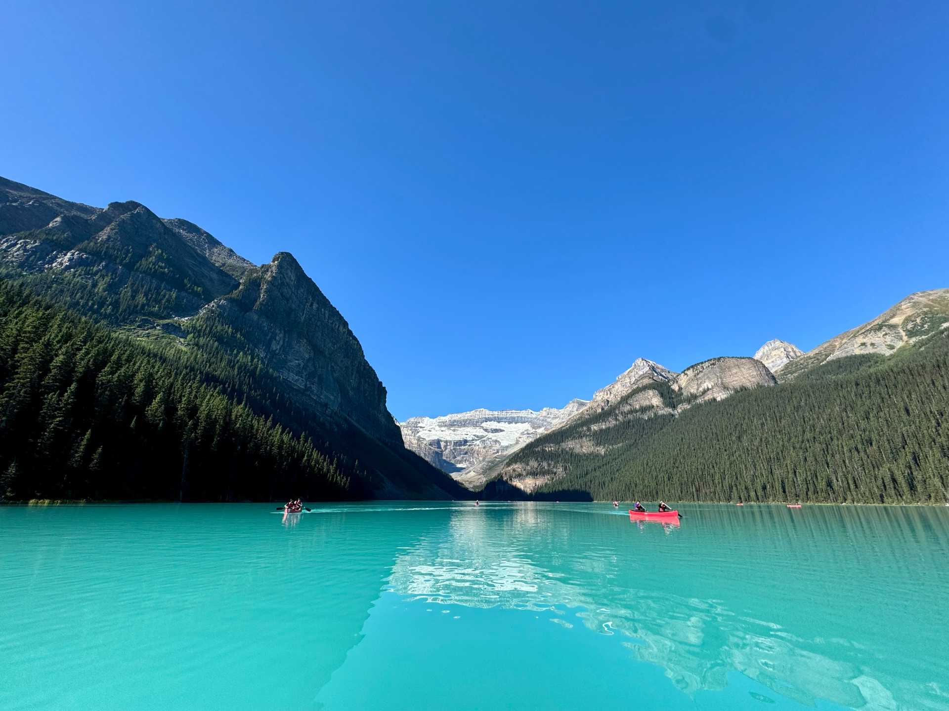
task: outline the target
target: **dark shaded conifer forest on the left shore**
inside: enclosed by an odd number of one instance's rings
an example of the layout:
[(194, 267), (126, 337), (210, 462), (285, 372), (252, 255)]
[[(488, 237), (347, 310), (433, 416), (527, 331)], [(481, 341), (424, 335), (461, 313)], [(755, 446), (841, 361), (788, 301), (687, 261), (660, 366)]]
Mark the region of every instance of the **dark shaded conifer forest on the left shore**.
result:
[(252, 373), (258, 364), (149, 346), (0, 281), (0, 496), (346, 497), (358, 463), (259, 413), (281, 403)]

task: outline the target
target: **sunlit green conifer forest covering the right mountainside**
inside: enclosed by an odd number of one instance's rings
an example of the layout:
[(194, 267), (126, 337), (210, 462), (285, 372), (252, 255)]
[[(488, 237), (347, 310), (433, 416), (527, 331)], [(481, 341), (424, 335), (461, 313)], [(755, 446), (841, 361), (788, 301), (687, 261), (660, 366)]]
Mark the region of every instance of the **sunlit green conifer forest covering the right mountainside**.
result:
[[(668, 386), (647, 387), (667, 407), (681, 405)], [(893, 356), (831, 360), (790, 383), (679, 408), (678, 415), (617, 418), (623, 401), (538, 438), (507, 469), (529, 465), (551, 477), (538, 498), (949, 500), (946, 329)], [(580, 439), (586, 452), (575, 447)]]

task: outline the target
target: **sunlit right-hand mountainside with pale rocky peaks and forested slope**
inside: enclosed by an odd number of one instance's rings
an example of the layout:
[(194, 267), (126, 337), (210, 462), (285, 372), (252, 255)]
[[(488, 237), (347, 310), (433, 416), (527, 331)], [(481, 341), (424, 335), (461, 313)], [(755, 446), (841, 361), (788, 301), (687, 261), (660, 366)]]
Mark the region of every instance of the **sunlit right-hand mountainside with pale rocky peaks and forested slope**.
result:
[[(741, 465), (748, 499), (941, 501), (947, 492), (942, 472), (949, 465), (949, 449), (941, 444), (946, 440), (942, 413), (949, 406), (943, 370), (947, 327), (949, 289), (937, 289), (912, 294), (876, 319), (830, 338), (808, 353), (774, 339), (762, 345), (754, 357), (711, 358), (679, 374), (637, 358), (586, 405), (537, 431), (529, 441), (506, 451), (482, 453), (475, 448), (451, 468), (429, 461), (460, 483), (480, 489), (484, 498), (645, 498), (650, 491), (656, 498), (672, 498), (673, 487), (663, 489), (657, 481), (674, 479), (687, 470), (696, 472), (695, 479), (675, 495), (707, 499), (714, 488), (716, 498), (726, 499), (734, 498), (740, 487), (737, 483), (713, 487), (703, 481), (723, 476), (706, 456), (708, 449), (672, 449), (668, 443), (677, 436), (698, 441), (702, 433), (719, 431), (715, 444), (723, 447), (720, 466), (734, 470), (736, 460), (741, 459), (736, 443), (745, 441), (740, 428), (754, 426), (759, 436), (742, 445), (745, 453), (754, 453), (756, 458)], [(888, 357), (894, 355), (901, 357)], [(929, 369), (928, 382), (919, 380), (920, 368)], [(870, 387), (871, 376), (885, 382), (886, 388)], [(815, 388), (820, 392), (814, 392)], [(766, 394), (766, 389), (772, 393)], [(726, 407), (723, 401), (736, 394), (741, 395), (740, 406)], [(795, 414), (811, 416), (809, 423), (795, 420), (794, 428), (778, 428), (775, 423), (789, 416), (782, 411), (768, 412), (754, 422), (747, 419), (748, 412), (763, 403), (781, 408), (782, 401), (800, 397), (807, 401), (798, 404)], [(908, 404), (901, 410), (903, 398), (926, 402), (915, 410)], [(689, 416), (684, 417), (687, 411)], [(463, 422), (467, 414), (436, 418), (441, 423), (439, 440), (464, 441), (465, 434), (453, 424)], [(800, 471), (792, 465), (790, 477), (782, 476), (791, 456), (779, 459), (774, 452), (808, 447), (809, 443), (800, 440), (812, 435), (809, 428), (814, 423), (828, 418), (829, 424), (813, 435), (824, 440), (824, 451), (802, 462)], [(902, 426), (897, 426), (901, 420)], [(878, 430), (876, 439), (871, 436), (871, 446), (861, 447), (857, 443), (871, 425)], [(908, 436), (909, 430), (912, 436)], [(418, 451), (418, 440), (404, 427), (402, 434), (406, 446)], [(882, 439), (888, 441), (887, 446), (876, 447)], [(910, 444), (913, 439), (919, 441)], [(638, 459), (650, 462), (648, 471), (638, 472), (649, 483), (642, 489), (629, 485)], [(685, 461), (673, 471), (671, 463), (677, 459)], [(904, 471), (899, 471), (901, 467)], [(854, 471), (847, 474), (847, 485), (829, 483), (849, 468)], [(831, 469), (829, 477), (813, 473)], [(867, 469), (873, 471), (869, 483)], [(804, 471), (809, 471), (807, 476)], [(810, 482), (813, 476), (823, 476), (823, 481)], [(755, 482), (764, 488), (755, 491)], [(706, 493), (701, 493), (703, 490)]]

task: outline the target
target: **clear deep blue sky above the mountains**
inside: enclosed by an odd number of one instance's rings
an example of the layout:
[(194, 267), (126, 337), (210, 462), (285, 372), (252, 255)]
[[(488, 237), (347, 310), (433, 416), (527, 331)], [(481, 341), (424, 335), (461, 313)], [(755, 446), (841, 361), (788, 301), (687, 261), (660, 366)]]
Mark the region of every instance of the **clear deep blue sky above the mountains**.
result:
[(399, 419), (949, 286), (941, 0), (13, 0), (0, 40), (0, 174), (293, 252)]

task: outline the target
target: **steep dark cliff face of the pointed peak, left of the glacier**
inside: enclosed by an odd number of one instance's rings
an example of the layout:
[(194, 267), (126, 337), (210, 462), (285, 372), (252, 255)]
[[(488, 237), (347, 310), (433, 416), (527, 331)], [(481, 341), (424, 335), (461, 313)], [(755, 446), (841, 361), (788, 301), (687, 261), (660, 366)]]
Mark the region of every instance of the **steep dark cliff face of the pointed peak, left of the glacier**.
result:
[(248, 271), (232, 294), (196, 317), (227, 324), (300, 398), (400, 445), (385, 388), (340, 312), (288, 252)]

